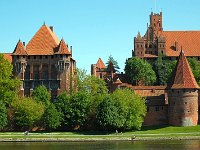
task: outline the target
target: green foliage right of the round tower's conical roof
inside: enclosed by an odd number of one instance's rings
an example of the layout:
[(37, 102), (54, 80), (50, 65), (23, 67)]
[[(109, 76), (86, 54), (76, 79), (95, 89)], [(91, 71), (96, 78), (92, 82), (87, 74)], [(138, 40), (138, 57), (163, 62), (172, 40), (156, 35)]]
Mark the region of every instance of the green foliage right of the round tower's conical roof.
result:
[(200, 84), (200, 63), (195, 58), (188, 58), (192, 73), (198, 84)]

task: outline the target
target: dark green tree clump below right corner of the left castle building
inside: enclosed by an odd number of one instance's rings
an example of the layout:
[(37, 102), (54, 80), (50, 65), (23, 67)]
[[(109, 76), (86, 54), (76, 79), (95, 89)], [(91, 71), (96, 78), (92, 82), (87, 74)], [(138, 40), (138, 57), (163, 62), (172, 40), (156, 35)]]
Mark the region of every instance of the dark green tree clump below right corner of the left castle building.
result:
[(88, 119), (90, 96), (86, 92), (77, 92), (68, 96), (63, 93), (55, 102), (56, 109), (61, 113), (62, 125), (81, 127)]

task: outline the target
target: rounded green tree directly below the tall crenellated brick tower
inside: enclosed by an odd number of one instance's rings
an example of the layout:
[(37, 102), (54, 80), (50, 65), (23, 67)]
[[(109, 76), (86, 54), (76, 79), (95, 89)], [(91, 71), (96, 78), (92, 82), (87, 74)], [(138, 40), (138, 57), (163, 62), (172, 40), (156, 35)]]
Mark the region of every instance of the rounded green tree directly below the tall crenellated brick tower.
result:
[(145, 60), (132, 57), (126, 61), (125, 74), (131, 84), (153, 85), (156, 81), (156, 74), (152, 66)]

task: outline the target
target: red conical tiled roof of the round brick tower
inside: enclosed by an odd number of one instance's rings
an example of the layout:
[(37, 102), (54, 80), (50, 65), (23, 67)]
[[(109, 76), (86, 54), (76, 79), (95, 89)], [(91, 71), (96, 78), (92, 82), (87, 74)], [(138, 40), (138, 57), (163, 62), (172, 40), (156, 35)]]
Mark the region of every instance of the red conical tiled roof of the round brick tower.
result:
[(173, 80), (172, 83), (169, 85), (169, 88), (171, 89), (199, 88), (183, 51), (181, 51), (180, 53), (175, 71), (176, 72), (172, 78)]

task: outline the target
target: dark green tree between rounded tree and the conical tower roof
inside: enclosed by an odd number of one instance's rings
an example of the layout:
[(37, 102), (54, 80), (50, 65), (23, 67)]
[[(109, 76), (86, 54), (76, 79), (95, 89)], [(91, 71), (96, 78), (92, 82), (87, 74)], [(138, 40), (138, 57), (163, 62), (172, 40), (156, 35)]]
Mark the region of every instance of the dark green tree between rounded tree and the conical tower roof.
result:
[(159, 55), (153, 64), (153, 69), (157, 76), (158, 85), (167, 85), (172, 72), (175, 69), (176, 61), (168, 60), (167, 58)]

